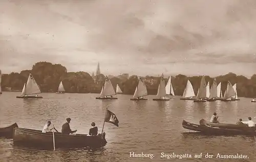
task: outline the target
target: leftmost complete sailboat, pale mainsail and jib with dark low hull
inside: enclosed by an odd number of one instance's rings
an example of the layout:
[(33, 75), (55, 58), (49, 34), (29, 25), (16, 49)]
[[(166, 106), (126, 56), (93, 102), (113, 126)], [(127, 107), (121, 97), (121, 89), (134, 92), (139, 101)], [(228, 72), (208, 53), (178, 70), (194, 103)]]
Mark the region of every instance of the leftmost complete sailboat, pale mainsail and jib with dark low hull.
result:
[[(38, 96), (36, 94), (40, 94), (40, 88), (37, 85), (34, 77), (31, 73), (29, 73), (29, 78), (27, 81), (27, 84), (24, 84), (24, 87), (22, 89), (22, 94), (20, 96), (17, 96), (16, 98), (23, 98), (23, 99), (41, 99), (41, 96)], [(35, 95), (35, 96), (34, 96)]]

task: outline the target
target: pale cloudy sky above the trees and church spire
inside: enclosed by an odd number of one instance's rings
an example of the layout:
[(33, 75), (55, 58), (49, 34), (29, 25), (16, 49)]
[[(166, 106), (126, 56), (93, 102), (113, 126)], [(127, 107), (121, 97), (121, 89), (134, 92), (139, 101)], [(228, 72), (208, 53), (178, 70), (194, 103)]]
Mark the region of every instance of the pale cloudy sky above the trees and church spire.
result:
[(254, 0), (1, 0), (0, 69), (250, 77), (255, 17)]

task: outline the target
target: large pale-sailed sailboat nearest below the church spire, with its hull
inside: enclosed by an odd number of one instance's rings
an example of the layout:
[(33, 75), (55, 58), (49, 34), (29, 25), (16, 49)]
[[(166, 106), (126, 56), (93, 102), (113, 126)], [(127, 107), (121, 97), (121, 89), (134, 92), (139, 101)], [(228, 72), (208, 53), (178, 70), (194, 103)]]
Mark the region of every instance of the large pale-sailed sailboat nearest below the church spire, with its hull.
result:
[(117, 99), (114, 98), (112, 95), (116, 95), (116, 92), (113, 88), (113, 85), (109, 79), (108, 76), (105, 77), (105, 82), (104, 85), (101, 88), (101, 92), (99, 97), (96, 97), (96, 99), (101, 99), (101, 100), (113, 100), (113, 99)]

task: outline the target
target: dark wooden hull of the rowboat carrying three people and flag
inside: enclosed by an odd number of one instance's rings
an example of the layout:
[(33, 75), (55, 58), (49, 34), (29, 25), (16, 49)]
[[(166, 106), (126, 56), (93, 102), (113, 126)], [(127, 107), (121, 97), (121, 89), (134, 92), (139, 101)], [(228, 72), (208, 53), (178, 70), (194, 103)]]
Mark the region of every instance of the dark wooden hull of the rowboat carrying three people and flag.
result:
[[(55, 148), (101, 148), (106, 145), (105, 132), (97, 136), (87, 134), (66, 135), (54, 132)], [(17, 145), (53, 148), (53, 133), (40, 130), (14, 128), (13, 142)]]

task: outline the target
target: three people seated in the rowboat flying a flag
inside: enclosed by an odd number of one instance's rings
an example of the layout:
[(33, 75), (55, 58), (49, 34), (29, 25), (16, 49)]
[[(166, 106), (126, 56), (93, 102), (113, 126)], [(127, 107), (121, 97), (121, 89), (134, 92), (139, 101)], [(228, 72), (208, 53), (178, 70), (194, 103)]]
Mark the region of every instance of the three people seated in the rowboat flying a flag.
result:
[[(67, 118), (66, 120), (67, 120), (67, 122), (62, 125), (61, 133), (62, 133), (62, 134), (68, 134), (68, 135), (76, 135), (75, 132), (76, 132), (77, 130), (71, 130), (70, 125), (69, 125), (71, 119), (70, 119), (70, 118)], [(45, 124), (44, 128), (42, 129), (42, 132), (43, 132), (43, 133), (46, 133), (46, 132), (51, 132), (51, 131), (54, 131), (54, 130), (55, 130), (56, 132), (58, 132), (58, 131), (55, 129), (55, 127), (50, 128), (50, 125), (51, 125), (51, 121), (48, 121), (48, 122)], [(96, 124), (95, 124), (94, 122), (92, 122), (91, 125), (92, 125), (92, 128), (89, 130), (89, 135), (98, 135), (98, 127), (95, 126)], [(53, 130), (53, 129), (54, 129), (54, 130)]]

